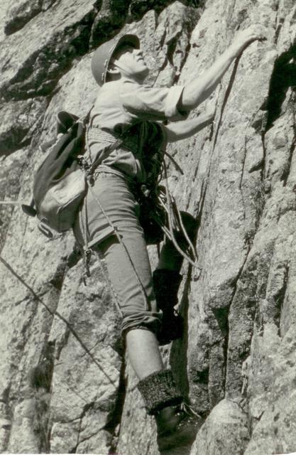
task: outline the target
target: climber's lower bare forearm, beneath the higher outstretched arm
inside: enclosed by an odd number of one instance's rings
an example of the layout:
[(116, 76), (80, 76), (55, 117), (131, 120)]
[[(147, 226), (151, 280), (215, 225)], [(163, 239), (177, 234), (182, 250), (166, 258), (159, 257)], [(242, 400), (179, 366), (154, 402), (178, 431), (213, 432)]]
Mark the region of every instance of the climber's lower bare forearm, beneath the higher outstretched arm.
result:
[(180, 141), (180, 139), (186, 139), (187, 137), (196, 134), (204, 127), (207, 127), (213, 122), (214, 117), (208, 114), (199, 115), (194, 119), (182, 120), (181, 122), (175, 122), (168, 124), (165, 127), (168, 142)]

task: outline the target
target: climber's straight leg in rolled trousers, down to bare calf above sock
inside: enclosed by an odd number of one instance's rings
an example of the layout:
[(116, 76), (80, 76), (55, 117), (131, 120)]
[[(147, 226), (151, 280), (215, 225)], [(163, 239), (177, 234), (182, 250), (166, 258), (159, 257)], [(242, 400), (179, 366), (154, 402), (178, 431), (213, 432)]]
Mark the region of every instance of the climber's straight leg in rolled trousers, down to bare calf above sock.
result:
[[(99, 176), (98, 181), (99, 200), (118, 229), (120, 239), (112, 235), (100, 242), (96, 250), (108, 269), (122, 316), (128, 357), (141, 379), (163, 369), (155, 336), (161, 326), (162, 313), (156, 306), (146, 242), (133, 195), (121, 177), (104, 175)], [(89, 218), (96, 207), (93, 205), (89, 208)], [(101, 225), (104, 222), (102, 217)]]

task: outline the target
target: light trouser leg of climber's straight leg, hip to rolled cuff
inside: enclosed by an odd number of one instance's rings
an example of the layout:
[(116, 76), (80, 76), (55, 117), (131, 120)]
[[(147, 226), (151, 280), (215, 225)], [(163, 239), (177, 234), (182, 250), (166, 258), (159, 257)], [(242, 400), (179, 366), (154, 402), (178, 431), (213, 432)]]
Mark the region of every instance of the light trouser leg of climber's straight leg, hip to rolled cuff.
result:
[(122, 330), (146, 328), (157, 331), (160, 313), (156, 309), (150, 262), (143, 229), (138, 222), (136, 202), (126, 184), (113, 178), (108, 194), (101, 193), (106, 215), (121, 238), (112, 235), (97, 245), (104, 258), (109, 280), (123, 316)]

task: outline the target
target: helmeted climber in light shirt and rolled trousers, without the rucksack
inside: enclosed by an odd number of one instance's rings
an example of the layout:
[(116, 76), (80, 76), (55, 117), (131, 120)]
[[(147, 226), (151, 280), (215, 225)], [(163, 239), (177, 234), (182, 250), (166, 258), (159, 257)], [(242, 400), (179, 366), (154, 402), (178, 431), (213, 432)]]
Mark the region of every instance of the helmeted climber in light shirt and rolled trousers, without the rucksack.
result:
[[(145, 186), (153, 169), (159, 171), (160, 166), (153, 168), (151, 160), (163, 158), (158, 151), (164, 151), (165, 144), (190, 137), (213, 122), (214, 107), (192, 119), (187, 114), (207, 100), (243, 49), (260, 39), (263, 36), (256, 27), (237, 33), (202, 75), (185, 86), (170, 88), (145, 84), (149, 70), (135, 35), (116, 36), (92, 57), (92, 74), (100, 88), (90, 114), (87, 153), (89, 162), (97, 166), (92, 191), (82, 206), (85, 216), (77, 218), (75, 235), (83, 242), (86, 233), (106, 262), (121, 311), (128, 358), (146, 410), (155, 417), (160, 451), (192, 444), (200, 421), (182, 405), (184, 398), (171, 370), (165, 369), (159, 349), (159, 344), (182, 335), (182, 318), (173, 307), (183, 257), (172, 241), (165, 241), (158, 267), (151, 274), (140, 223), (141, 204), (134, 188)], [(110, 149), (119, 138), (121, 144)], [(194, 219), (182, 216), (193, 239)], [(182, 235), (179, 240), (182, 245)]]

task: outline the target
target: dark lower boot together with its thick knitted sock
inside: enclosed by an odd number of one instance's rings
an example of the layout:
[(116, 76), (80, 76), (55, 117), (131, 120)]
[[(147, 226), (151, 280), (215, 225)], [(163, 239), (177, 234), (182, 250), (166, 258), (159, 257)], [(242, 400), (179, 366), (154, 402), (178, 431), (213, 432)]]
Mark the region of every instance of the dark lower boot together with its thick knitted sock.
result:
[(202, 419), (185, 405), (170, 370), (152, 373), (138, 382), (148, 414), (155, 417), (160, 451), (190, 446)]

